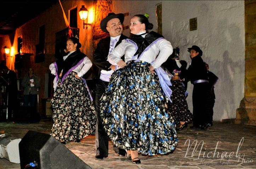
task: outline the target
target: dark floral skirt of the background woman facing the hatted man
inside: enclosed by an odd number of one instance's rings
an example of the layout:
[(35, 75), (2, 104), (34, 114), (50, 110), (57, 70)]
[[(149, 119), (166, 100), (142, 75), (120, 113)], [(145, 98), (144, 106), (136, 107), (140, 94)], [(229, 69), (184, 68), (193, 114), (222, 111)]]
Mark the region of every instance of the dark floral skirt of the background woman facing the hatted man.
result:
[(175, 119), (175, 123), (179, 124), (180, 121), (191, 123), (193, 119), (192, 113), (188, 109), (188, 103), (185, 97), (185, 88), (180, 80), (172, 80), (172, 103), (168, 103), (168, 112)]

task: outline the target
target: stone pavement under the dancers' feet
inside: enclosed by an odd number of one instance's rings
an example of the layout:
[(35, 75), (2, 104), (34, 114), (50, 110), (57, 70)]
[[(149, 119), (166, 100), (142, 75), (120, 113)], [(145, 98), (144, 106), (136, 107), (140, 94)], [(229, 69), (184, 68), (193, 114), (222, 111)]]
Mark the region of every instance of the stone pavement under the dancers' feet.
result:
[[(0, 131), (17, 138), (22, 138), (29, 130), (49, 134), (51, 127), (52, 123), (44, 121), (35, 124), (0, 123)], [(178, 132), (178, 138), (178, 146), (172, 154), (139, 155), (139, 165), (132, 164), (126, 157), (116, 156), (111, 141), (108, 158), (94, 159), (95, 136), (65, 146), (92, 169), (256, 169), (256, 126), (215, 122), (207, 130), (188, 127)], [(0, 158), (0, 169), (19, 168), (19, 164)]]

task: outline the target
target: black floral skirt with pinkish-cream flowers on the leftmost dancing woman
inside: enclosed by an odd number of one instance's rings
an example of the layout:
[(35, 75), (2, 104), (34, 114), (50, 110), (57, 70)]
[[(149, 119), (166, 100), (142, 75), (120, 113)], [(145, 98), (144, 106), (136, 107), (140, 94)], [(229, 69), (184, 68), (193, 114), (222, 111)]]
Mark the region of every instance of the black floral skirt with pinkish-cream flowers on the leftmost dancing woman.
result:
[(51, 104), (51, 135), (60, 141), (80, 140), (95, 134), (96, 111), (83, 80), (70, 72), (62, 84), (58, 80)]

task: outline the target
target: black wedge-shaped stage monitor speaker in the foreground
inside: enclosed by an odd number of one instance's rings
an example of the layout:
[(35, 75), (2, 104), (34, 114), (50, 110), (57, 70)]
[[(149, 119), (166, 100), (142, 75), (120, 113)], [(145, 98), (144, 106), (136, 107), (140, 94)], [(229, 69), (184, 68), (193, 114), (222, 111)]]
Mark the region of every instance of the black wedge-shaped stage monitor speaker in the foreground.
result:
[(39, 169), (91, 169), (53, 136), (28, 131), (19, 142), (21, 169), (34, 163)]

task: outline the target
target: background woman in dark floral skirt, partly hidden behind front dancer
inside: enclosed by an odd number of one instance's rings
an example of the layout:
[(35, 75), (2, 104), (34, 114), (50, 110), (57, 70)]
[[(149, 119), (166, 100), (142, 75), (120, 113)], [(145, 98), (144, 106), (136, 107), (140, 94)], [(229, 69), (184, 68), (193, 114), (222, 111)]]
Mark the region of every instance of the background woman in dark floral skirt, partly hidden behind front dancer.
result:
[(192, 122), (193, 115), (188, 109), (186, 100), (185, 73), (187, 62), (180, 62), (179, 59), (180, 49), (177, 47), (173, 49), (171, 56), (162, 64), (162, 66), (171, 78), (172, 83), (172, 102), (168, 102), (168, 111), (175, 119), (175, 123), (180, 124), (177, 126), (177, 130), (182, 130), (187, 127), (187, 124)]

